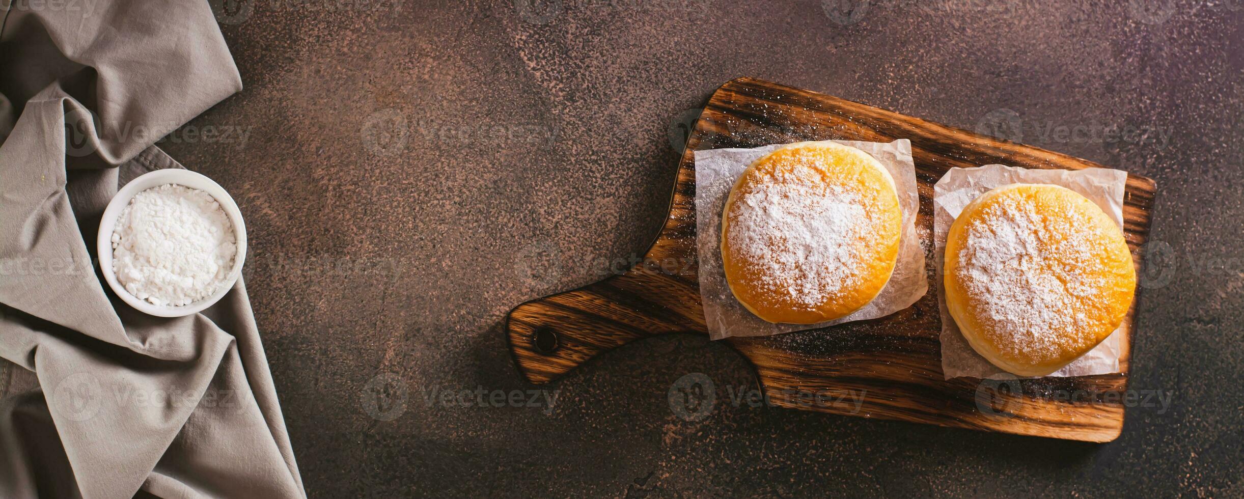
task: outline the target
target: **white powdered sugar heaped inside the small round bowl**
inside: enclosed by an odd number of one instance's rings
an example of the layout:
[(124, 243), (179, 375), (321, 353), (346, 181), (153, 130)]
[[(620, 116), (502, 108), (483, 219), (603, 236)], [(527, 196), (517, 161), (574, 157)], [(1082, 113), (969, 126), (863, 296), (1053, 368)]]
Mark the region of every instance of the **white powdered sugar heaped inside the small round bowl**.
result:
[(233, 223), (215, 198), (178, 184), (136, 194), (112, 233), (117, 281), (153, 305), (211, 296), (229, 277), (236, 253)]

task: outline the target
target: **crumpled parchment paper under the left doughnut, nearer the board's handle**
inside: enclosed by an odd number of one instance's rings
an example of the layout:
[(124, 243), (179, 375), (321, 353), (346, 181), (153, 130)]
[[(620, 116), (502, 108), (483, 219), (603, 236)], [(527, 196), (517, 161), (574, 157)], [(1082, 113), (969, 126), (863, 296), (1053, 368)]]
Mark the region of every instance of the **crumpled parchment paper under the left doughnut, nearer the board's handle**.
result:
[(709, 149), (695, 152), (695, 229), (699, 255), (700, 295), (709, 338), (730, 336), (769, 336), (802, 331), (836, 324), (884, 317), (907, 309), (928, 292), (924, 274), (924, 250), (916, 235), (916, 213), (919, 193), (916, 189), (916, 163), (908, 139), (883, 142), (827, 141), (858, 148), (877, 158), (894, 179), (898, 204), (903, 210), (903, 231), (898, 243), (898, 261), (886, 287), (876, 299), (851, 315), (819, 324), (771, 324), (753, 315), (743, 306), (725, 282), (722, 269), (722, 210), (734, 182), (748, 167), (769, 152), (786, 146), (773, 144), (753, 149)]

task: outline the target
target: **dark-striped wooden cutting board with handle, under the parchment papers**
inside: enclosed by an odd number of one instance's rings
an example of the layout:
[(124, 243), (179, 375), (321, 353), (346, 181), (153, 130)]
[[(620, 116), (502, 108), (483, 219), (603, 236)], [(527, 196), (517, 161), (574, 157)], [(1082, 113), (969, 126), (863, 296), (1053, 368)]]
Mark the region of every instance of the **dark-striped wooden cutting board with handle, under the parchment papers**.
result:
[[(695, 265), (694, 151), (899, 138), (912, 141), (921, 194), (917, 234), (926, 251), (933, 248), (933, 184), (949, 168), (1101, 167), (806, 90), (733, 80), (709, 98), (687, 142), (669, 214), (644, 261), (626, 274), (510, 311), (505, 329), (519, 370), (529, 381), (544, 383), (634, 340), (672, 332), (707, 335)], [(1153, 194), (1153, 180), (1128, 175), (1123, 225), (1138, 274)], [(751, 361), (765, 394), (781, 407), (1090, 442), (1118, 437), (1136, 333), (1135, 302), (1125, 322), (1120, 375), (943, 380), (934, 260), (926, 256), (929, 292), (907, 310), (822, 330), (722, 341)], [(858, 394), (863, 402), (857, 407)]]

